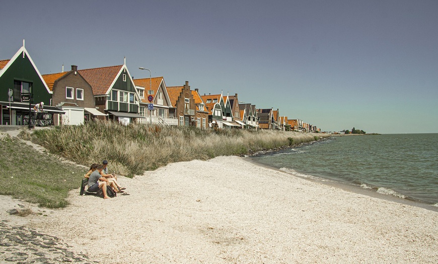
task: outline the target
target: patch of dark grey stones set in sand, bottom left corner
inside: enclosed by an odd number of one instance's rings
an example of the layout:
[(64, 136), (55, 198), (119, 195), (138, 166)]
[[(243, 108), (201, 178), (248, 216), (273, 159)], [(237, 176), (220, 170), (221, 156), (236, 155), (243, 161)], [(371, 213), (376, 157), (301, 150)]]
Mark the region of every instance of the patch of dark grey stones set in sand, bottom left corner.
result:
[(8, 225), (6, 220), (0, 222), (0, 263), (97, 263), (69, 248), (57, 237), (25, 226)]

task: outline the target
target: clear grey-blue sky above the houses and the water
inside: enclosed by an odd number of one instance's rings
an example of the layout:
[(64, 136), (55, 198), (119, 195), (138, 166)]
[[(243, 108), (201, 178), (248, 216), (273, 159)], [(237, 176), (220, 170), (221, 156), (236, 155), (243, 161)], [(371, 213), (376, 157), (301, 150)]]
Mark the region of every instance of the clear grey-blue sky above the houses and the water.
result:
[(438, 1), (5, 1), (0, 60), (238, 94), (322, 131), (438, 133)]

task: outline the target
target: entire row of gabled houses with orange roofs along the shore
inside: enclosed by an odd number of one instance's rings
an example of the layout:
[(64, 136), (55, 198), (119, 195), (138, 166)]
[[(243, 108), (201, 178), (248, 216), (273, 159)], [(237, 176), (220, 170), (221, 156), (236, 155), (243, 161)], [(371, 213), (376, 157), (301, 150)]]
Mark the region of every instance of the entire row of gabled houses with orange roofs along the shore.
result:
[(122, 123), (196, 126), (201, 129), (263, 128), (318, 131), (279, 110), (242, 103), (238, 94), (203, 94), (182, 86), (166, 86), (164, 77), (133, 79), (122, 65), (41, 75), (23, 46), (0, 60), (1, 124), (23, 125), (30, 108), (44, 102), (54, 125), (78, 125), (98, 119)]

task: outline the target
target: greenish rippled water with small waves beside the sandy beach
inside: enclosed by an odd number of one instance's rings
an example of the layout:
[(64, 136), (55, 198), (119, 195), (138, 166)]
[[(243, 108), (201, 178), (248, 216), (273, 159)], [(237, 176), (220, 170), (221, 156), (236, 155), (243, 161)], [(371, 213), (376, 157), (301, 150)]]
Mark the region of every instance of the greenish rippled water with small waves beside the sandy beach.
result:
[(252, 159), (438, 207), (438, 134), (333, 137)]

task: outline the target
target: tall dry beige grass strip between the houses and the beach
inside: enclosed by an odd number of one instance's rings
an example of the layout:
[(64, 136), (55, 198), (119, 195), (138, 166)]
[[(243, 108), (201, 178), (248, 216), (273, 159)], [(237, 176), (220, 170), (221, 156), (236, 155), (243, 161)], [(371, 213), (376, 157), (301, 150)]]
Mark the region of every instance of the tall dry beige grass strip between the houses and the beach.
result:
[(145, 124), (125, 126), (112, 121), (41, 129), (30, 135), (34, 143), (52, 153), (83, 165), (106, 159), (114, 172), (129, 177), (171, 162), (243, 155), (310, 142), (321, 136), (276, 130), (215, 131)]

